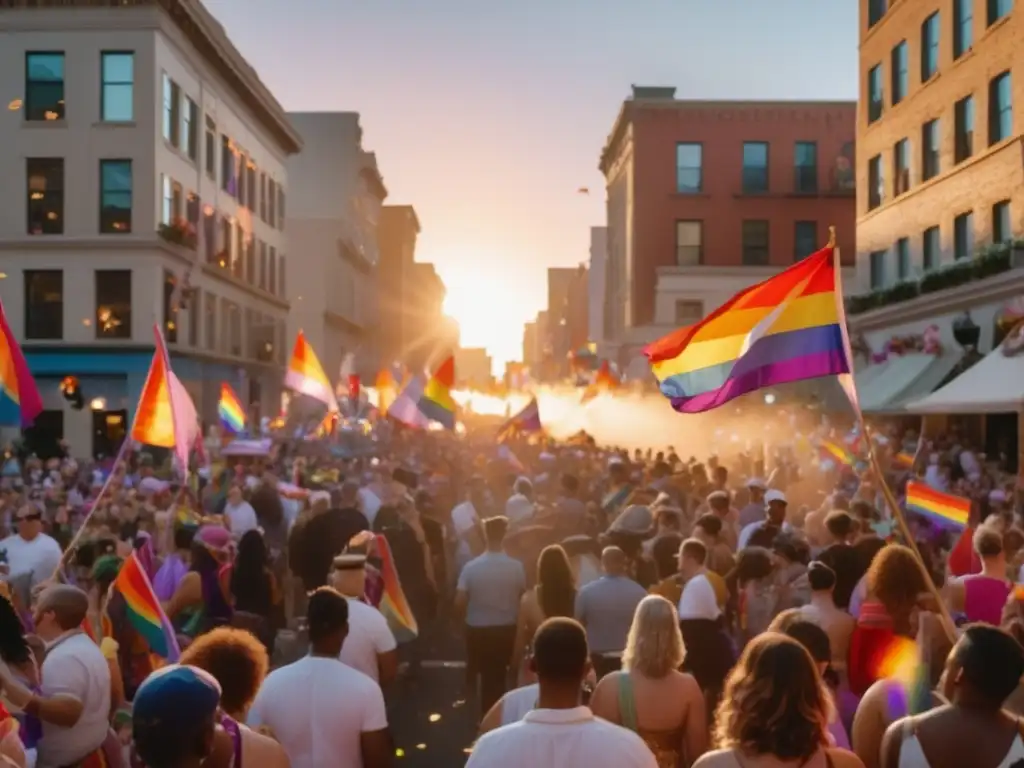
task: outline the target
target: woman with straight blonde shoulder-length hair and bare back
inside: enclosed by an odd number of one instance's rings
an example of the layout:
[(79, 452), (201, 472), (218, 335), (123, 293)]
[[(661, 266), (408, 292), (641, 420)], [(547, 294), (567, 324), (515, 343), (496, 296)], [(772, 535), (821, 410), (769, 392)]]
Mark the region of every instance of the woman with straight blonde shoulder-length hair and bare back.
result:
[(645, 597), (633, 615), (622, 672), (601, 678), (591, 698), (594, 715), (637, 733), (658, 768), (689, 768), (707, 745), (703, 694), (693, 676), (679, 672), (684, 655), (675, 606)]

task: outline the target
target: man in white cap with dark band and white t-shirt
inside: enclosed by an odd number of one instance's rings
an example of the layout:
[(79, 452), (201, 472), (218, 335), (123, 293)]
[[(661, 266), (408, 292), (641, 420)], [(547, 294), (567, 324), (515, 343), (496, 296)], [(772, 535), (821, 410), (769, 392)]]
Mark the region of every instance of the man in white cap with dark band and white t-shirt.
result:
[(334, 558), (331, 586), (348, 600), (348, 636), (339, 657), (384, 687), (398, 676), (398, 644), (384, 614), (362, 601), (366, 567), (366, 555)]

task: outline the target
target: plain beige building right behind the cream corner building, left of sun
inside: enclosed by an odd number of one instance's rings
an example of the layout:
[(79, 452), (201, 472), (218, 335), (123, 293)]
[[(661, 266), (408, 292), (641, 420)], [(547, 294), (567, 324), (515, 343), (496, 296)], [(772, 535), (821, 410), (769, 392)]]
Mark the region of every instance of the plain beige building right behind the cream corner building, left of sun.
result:
[(362, 147), (354, 112), (291, 113), (303, 150), (288, 161), (289, 338), (301, 329), (329, 378), (352, 353), (356, 373), (376, 375), (380, 263), (377, 229), (387, 188)]

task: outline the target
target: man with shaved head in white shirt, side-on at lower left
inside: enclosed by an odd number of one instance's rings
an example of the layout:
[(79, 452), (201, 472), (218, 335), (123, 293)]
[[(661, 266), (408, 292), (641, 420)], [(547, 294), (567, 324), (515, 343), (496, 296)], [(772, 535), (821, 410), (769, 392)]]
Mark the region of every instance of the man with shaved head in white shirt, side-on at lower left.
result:
[(99, 646), (82, 631), (88, 609), (89, 598), (77, 587), (46, 588), (35, 609), (36, 634), (46, 642), (42, 690), (34, 693), (0, 674), (7, 699), (43, 723), (39, 768), (92, 760), (106, 739), (111, 670)]

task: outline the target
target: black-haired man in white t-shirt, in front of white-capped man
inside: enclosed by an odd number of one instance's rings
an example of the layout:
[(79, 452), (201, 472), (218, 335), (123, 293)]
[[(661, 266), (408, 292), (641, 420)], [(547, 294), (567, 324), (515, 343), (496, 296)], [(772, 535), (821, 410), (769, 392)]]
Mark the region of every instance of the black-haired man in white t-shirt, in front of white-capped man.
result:
[(380, 686), (338, 660), (349, 601), (330, 587), (309, 598), (309, 655), (271, 672), (249, 711), (249, 726), (270, 729), (292, 768), (391, 765)]

